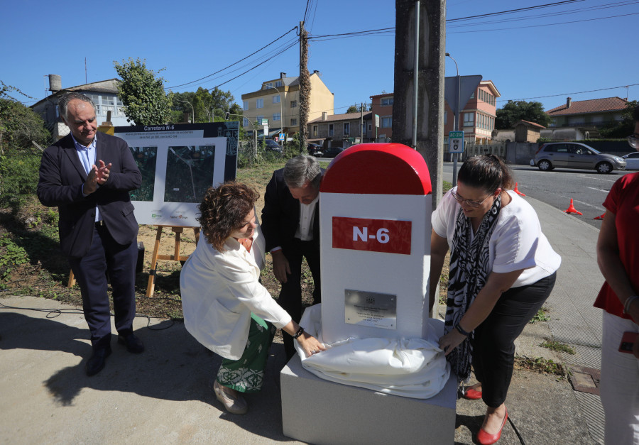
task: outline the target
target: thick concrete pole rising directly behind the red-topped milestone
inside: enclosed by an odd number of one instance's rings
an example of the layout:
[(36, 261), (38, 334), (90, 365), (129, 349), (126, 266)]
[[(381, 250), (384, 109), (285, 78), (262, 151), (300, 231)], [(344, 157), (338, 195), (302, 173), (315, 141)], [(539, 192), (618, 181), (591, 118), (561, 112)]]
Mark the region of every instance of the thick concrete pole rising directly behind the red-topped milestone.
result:
[(442, 196), (445, 10), (441, 0), (395, 0), (393, 142), (426, 160), (433, 209)]

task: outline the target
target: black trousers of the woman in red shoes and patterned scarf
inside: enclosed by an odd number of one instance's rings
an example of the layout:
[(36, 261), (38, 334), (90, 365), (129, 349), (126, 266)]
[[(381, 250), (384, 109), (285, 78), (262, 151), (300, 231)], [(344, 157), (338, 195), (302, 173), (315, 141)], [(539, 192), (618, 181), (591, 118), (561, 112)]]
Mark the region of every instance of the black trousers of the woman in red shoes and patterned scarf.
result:
[(488, 318), (476, 327), (473, 368), (481, 382), (482, 399), (496, 408), (506, 400), (515, 363), (515, 339), (555, 286), (557, 273), (528, 286), (511, 287), (504, 292)]

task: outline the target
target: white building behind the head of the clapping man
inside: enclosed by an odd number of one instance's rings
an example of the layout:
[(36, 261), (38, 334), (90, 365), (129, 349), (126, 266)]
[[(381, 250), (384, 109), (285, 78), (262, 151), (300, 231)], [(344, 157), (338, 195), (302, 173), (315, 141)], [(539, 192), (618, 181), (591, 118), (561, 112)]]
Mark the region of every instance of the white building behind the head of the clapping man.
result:
[(107, 121), (107, 112), (111, 111), (111, 123), (114, 126), (133, 125), (133, 123), (126, 121), (126, 116), (122, 109), (124, 104), (117, 96), (117, 82), (119, 82), (118, 79), (108, 79), (77, 85), (76, 87), (62, 88), (60, 76), (49, 75), (50, 96), (31, 105), (31, 109), (45, 121), (54, 140), (58, 140), (69, 133), (69, 128), (60, 120), (60, 111), (58, 110), (58, 100), (63, 94), (69, 92), (80, 92), (92, 99), (98, 124)]

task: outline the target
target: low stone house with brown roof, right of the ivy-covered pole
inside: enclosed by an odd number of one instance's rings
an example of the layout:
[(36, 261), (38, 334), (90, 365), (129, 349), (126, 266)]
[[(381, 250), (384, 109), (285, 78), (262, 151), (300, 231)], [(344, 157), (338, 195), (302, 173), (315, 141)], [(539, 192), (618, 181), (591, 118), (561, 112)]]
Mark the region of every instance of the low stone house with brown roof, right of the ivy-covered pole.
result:
[(322, 145), (324, 148), (342, 147), (362, 142), (371, 142), (371, 111), (364, 114), (344, 113), (327, 114), (308, 123), (308, 142)]

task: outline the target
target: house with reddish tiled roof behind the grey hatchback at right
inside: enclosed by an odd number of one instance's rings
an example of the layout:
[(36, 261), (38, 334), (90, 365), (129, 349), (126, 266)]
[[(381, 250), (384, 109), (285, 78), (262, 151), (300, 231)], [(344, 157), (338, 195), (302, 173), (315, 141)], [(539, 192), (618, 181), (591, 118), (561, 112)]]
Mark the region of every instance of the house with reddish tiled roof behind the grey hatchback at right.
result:
[[(580, 135), (589, 138), (598, 138), (599, 128), (618, 123), (623, 120), (623, 111), (628, 101), (621, 97), (604, 97), (603, 99), (589, 99), (585, 101), (573, 101), (566, 98), (566, 104), (556, 106), (546, 111), (552, 122), (549, 131), (563, 131), (571, 129), (574, 136)], [(549, 137), (542, 134), (542, 136)]]

